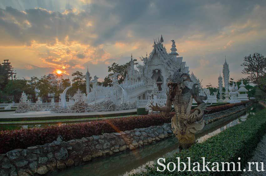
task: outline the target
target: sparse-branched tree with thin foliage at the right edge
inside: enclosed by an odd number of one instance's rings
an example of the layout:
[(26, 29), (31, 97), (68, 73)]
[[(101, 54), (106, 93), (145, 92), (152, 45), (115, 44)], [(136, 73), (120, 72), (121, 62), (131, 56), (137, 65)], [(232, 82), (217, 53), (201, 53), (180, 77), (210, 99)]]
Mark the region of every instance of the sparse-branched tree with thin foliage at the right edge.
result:
[(245, 67), (242, 73), (248, 75), (246, 79), (257, 84), (266, 93), (266, 58), (259, 53), (253, 53), (244, 57), (241, 66)]

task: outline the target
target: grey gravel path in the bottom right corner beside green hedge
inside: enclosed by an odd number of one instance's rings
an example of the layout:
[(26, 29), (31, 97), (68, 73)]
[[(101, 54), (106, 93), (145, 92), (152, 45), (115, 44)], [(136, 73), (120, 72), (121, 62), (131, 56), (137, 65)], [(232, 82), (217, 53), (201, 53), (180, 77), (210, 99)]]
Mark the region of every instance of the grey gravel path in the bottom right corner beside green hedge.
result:
[(264, 164), (264, 170), (262, 172), (256, 171), (256, 164), (251, 164), (251, 170), (248, 171), (249, 167), (248, 164), (246, 165), (245, 169), (246, 172), (243, 173), (243, 175), (266, 175), (266, 135), (263, 136), (261, 141), (258, 143), (258, 146), (254, 150), (253, 157), (248, 162), (258, 162), (258, 170), (261, 170), (261, 164), (260, 162), (263, 162)]

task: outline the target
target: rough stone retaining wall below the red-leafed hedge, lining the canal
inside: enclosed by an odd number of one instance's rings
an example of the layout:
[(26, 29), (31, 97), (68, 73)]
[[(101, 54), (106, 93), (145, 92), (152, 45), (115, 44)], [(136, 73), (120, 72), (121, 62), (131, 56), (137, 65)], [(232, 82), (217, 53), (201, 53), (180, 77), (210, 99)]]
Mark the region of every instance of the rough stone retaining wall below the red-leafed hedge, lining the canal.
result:
[[(207, 130), (234, 116), (240, 115), (248, 106), (233, 107), (204, 116)], [(54, 141), (45, 145), (17, 149), (0, 155), (0, 175), (43, 175), (58, 169), (77, 166), (92, 158), (113, 155), (123, 150), (151, 144), (172, 136), (171, 124), (151, 126), (119, 133), (104, 133), (100, 136), (78, 140)], [(23, 142), (23, 141), (22, 141)]]

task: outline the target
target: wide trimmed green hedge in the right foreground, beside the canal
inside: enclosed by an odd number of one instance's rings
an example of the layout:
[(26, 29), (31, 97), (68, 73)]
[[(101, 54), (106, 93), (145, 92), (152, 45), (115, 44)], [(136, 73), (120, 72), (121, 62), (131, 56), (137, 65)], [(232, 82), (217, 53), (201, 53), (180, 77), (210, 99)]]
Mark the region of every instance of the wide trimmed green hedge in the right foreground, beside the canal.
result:
[[(186, 163), (187, 166), (187, 157), (191, 157), (191, 170), (194, 167), (194, 162), (199, 162), (200, 170), (202, 170), (201, 157), (205, 157), (205, 162), (211, 162), (211, 164), (218, 162), (220, 170), (222, 170), (221, 162), (234, 162), (236, 170), (238, 170), (237, 162), (241, 162), (241, 170), (243, 170), (245, 164), (249, 162), (248, 159), (252, 157), (252, 151), (265, 133), (266, 109), (263, 109), (256, 115), (249, 117), (245, 122), (230, 127), (202, 143), (196, 143), (191, 148), (176, 153), (173, 157), (166, 158), (165, 165), (174, 162), (176, 164), (175, 171), (170, 172), (167, 169), (163, 172), (156, 171), (157, 166), (161, 170), (163, 170), (163, 167), (155, 164), (153, 167), (147, 166), (147, 171), (136, 175), (239, 175), (241, 172), (188, 172), (187, 170), (177, 172), (176, 157), (180, 157), (180, 162)], [(241, 159), (238, 160), (238, 157)], [(161, 160), (161, 162), (163, 161)], [(210, 169), (212, 168), (211, 164), (208, 165)], [(181, 167), (183, 167), (182, 164)], [(227, 169), (227, 165), (225, 165), (225, 168)], [(170, 170), (173, 170), (173, 164), (170, 164)], [(230, 170), (233, 170), (232, 167), (230, 167)]]

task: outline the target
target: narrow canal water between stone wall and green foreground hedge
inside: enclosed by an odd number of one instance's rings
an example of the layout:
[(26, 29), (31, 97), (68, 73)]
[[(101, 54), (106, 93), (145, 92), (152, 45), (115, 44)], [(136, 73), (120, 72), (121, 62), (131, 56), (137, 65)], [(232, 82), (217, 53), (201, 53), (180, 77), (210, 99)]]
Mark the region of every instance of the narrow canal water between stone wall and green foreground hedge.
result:
[[(246, 121), (250, 115), (254, 115), (256, 112), (262, 109), (263, 106), (260, 104), (253, 104), (253, 106), (242, 115), (199, 133), (196, 135), (196, 138), (198, 142), (202, 142), (231, 126)], [(156, 164), (158, 158), (166, 158), (178, 151), (177, 139), (173, 136), (151, 145), (145, 145), (144, 147), (140, 147), (135, 150), (127, 150), (119, 154), (103, 158), (96, 158), (84, 165), (69, 168), (60, 172), (56, 171), (53, 173), (53, 175), (128, 175), (145, 169), (146, 165)]]

